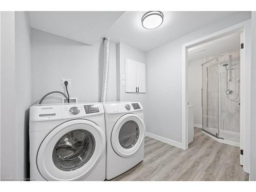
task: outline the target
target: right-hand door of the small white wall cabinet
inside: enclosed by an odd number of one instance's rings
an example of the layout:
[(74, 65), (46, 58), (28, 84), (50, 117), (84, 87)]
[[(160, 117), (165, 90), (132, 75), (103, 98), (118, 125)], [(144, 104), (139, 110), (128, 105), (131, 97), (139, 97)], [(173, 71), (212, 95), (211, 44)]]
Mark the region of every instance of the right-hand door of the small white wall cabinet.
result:
[(137, 87), (139, 93), (146, 93), (146, 65), (137, 62)]

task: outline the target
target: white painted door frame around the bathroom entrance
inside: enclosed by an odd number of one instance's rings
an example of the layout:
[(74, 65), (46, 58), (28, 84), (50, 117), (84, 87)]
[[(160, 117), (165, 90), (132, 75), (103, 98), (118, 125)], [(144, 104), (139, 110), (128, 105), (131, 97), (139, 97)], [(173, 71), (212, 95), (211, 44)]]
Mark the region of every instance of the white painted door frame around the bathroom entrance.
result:
[(187, 133), (188, 133), (188, 123), (187, 123), (187, 49), (200, 45), (204, 42), (211, 41), (213, 39), (225, 36), (226, 34), (240, 31), (244, 31), (244, 62), (241, 63), (241, 103), (240, 106), (240, 147), (243, 150), (243, 156), (241, 161), (243, 162), (244, 171), (249, 173), (250, 170), (250, 69), (251, 69), (251, 20), (246, 20), (245, 22), (233, 25), (231, 27), (222, 29), (215, 33), (203, 36), (196, 40), (187, 42), (182, 45), (182, 148), (183, 150), (188, 149)]

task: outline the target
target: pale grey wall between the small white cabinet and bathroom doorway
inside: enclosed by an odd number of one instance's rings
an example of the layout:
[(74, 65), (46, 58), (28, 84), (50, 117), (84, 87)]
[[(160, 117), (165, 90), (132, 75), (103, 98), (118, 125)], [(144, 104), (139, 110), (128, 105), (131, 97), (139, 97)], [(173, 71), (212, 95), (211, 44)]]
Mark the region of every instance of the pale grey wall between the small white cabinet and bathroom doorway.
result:
[(146, 53), (148, 132), (177, 142), (182, 140), (182, 45), (249, 18), (248, 14), (233, 14)]

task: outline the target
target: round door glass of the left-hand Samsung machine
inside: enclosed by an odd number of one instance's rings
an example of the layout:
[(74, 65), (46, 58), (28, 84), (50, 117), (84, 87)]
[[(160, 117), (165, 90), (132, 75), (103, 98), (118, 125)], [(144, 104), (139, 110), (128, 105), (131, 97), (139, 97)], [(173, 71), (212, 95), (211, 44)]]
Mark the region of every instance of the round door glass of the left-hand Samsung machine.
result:
[(75, 170), (86, 164), (95, 150), (95, 139), (86, 130), (73, 130), (62, 136), (53, 148), (52, 158), (61, 170)]

